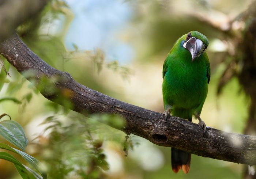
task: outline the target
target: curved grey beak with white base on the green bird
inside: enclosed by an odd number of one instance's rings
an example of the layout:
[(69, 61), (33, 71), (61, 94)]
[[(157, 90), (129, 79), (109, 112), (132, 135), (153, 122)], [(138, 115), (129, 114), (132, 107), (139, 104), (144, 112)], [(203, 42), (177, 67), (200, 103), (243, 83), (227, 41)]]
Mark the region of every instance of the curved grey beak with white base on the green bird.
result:
[(191, 37), (188, 41), (185, 41), (183, 47), (191, 53), (192, 61), (194, 61), (196, 57), (203, 53), (205, 45), (201, 40)]

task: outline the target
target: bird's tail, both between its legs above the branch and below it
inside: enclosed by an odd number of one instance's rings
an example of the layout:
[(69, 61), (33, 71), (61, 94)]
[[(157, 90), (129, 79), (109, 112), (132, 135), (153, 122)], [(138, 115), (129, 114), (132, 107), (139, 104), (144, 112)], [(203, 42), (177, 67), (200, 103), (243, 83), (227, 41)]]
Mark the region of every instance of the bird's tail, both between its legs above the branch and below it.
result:
[[(174, 108), (172, 114), (173, 116), (177, 116), (183, 119), (188, 119), (188, 121), (192, 121), (192, 114), (190, 113), (190, 111)], [(190, 169), (191, 153), (176, 148), (172, 148), (171, 153), (173, 172), (177, 173), (180, 169), (182, 169), (183, 172), (187, 174)]]

